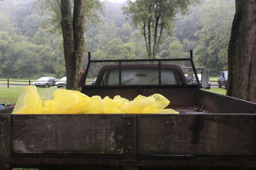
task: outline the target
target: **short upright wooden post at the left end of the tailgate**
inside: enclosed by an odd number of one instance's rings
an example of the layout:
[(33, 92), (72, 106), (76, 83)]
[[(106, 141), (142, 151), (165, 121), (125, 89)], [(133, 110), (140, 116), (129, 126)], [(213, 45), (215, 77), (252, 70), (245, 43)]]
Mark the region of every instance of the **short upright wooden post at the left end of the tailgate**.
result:
[(0, 114), (0, 156), (11, 156), (12, 134), (10, 114)]

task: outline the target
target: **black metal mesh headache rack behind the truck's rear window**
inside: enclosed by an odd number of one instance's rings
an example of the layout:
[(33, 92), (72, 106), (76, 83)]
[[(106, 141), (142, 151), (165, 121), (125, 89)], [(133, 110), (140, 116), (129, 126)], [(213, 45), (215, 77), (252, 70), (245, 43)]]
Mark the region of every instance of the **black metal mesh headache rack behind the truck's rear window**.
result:
[[(91, 60), (88, 53), (87, 68), (79, 72), (78, 86), (95, 87), (198, 87), (197, 72), (190, 58)], [(197, 82), (193, 81), (196, 75)]]

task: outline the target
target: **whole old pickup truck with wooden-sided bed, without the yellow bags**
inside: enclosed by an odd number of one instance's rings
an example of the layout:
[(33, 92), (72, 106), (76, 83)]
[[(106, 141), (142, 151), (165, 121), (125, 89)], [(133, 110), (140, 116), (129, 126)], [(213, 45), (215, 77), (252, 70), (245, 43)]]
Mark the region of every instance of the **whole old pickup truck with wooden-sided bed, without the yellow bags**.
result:
[(84, 94), (133, 100), (159, 93), (180, 114), (16, 115), (6, 107), (1, 170), (256, 168), (256, 103), (202, 90), (198, 78), (188, 84), (184, 75), (197, 73), (192, 51), (186, 59), (88, 57), (78, 82)]

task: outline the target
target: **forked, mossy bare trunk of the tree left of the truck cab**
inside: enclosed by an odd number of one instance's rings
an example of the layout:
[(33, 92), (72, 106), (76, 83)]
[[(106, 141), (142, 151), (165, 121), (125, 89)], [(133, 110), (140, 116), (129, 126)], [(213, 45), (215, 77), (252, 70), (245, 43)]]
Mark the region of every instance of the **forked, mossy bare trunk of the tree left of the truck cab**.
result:
[(63, 35), (67, 89), (78, 90), (78, 71), (82, 68), (84, 51), (84, 1), (74, 0), (73, 16), (70, 0), (60, 2), (62, 16), (60, 25)]

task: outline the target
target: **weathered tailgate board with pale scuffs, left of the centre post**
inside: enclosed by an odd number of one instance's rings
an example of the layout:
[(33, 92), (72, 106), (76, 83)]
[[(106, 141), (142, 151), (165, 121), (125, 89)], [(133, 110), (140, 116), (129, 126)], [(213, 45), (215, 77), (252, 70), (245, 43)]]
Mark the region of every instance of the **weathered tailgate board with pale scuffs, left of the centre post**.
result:
[(123, 115), (12, 115), (14, 153), (122, 154)]

